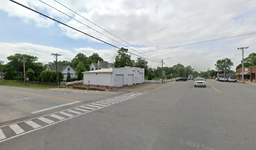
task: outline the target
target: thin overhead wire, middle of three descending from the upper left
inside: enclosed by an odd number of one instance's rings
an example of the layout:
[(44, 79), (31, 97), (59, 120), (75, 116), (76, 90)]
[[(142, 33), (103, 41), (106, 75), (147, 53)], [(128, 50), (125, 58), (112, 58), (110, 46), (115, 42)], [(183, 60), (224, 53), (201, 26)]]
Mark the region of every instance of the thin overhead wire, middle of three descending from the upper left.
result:
[[(120, 43), (120, 42), (118, 42), (118, 41), (115, 41), (115, 40), (112, 39), (111, 37), (106, 36), (106, 35), (103, 34), (102, 32), (99, 32), (99, 31), (93, 29), (92, 27), (88, 26), (87, 24), (84, 24), (83, 22), (78, 21), (77, 19), (75, 19), (74, 17), (72, 17), (72, 16), (66, 14), (65, 12), (62, 12), (62, 11), (60, 11), (59, 9), (56, 9), (55, 7), (51, 6), (50, 4), (47, 4), (46, 2), (43, 2), (43, 1), (41, 1), (41, 0), (38, 0), (38, 1), (42, 2), (43, 4), (46, 4), (47, 6), (49, 6), (50, 8), (55, 9), (55, 10), (58, 11), (58, 12), (61, 12), (61, 14), (64, 14), (65, 16), (70, 17), (71, 19), (73, 19), (73, 20), (79, 22), (80, 24), (83, 24), (84, 26), (87, 26), (88, 28), (92, 29), (93, 31), (98, 32), (98, 33), (101, 34), (102, 36), (105, 36), (105, 37), (111, 39), (112, 41), (117, 42), (118, 44), (121, 44), (122, 46), (125, 46), (124, 44), (122, 44), (122, 43)], [(125, 47), (127, 47), (127, 46), (125, 46)], [(130, 49), (131, 49), (131, 48), (130, 48)], [(138, 51), (136, 51), (136, 50), (134, 50), (134, 49), (132, 49), (132, 50), (135, 51), (135, 52), (137, 52), (137, 53), (139, 53)], [(146, 56), (146, 54), (142, 54), (142, 55), (143, 55), (143, 56)], [(146, 56), (146, 57), (149, 57), (149, 56)], [(149, 57), (149, 58), (151, 58), (151, 57)], [(152, 58), (152, 59), (155, 59), (155, 58)], [(157, 60), (157, 59), (155, 59), (155, 60)]]

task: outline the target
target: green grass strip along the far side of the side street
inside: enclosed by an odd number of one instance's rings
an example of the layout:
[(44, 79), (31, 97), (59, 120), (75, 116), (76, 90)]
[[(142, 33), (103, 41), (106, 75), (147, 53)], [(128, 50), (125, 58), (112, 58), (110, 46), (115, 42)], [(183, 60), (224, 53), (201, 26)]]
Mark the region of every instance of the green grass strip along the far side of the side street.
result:
[(58, 86), (50, 86), (50, 85), (41, 85), (41, 84), (24, 84), (24, 83), (17, 83), (13, 80), (1, 80), (0, 79), (0, 86), (14, 86), (19, 88), (31, 88), (31, 89), (50, 89), (50, 88), (58, 88)]

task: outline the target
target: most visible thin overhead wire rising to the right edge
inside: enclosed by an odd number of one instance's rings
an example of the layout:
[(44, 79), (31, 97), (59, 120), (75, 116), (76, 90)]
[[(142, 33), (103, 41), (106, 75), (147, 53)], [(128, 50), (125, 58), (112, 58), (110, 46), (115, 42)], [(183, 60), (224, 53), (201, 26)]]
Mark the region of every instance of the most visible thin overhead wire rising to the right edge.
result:
[(146, 51), (144, 53), (149, 53), (149, 52), (153, 52), (153, 51), (161, 51), (161, 50), (164, 50), (164, 49), (172, 49), (172, 48), (176, 48), (176, 47), (183, 47), (183, 46), (201, 44), (203, 42), (213, 42), (213, 41), (220, 41), (222, 39), (232, 39), (232, 38), (235, 38), (235, 37), (250, 36), (250, 35), (253, 35), (253, 34), (256, 34), (256, 31), (255, 32), (248, 32), (248, 33), (245, 33), (245, 34), (238, 34), (238, 35), (235, 35), (235, 36), (221, 37), (221, 38), (218, 38), (218, 39), (210, 39), (210, 40), (206, 40), (206, 41), (193, 42), (193, 43), (183, 44), (183, 45), (179, 45), (179, 46), (165, 47), (165, 48), (161, 48), (161, 49), (154, 49), (152, 51)]

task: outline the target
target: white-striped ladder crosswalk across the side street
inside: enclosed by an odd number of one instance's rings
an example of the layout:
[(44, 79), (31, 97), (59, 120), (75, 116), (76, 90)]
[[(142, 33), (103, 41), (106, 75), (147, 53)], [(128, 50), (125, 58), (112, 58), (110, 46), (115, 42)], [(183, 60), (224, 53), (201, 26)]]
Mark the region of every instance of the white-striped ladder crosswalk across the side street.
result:
[(77, 106), (75, 108), (66, 109), (52, 114), (46, 114), (38, 118), (19, 121), (18, 123), (0, 126), (0, 143), (13, 139), (23, 134), (28, 134), (38, 129), (46, 128), (53, 124), (61, 123), (68, 119), (76, 118), (82, 114), (90, 113), (97, 109), (105, 108), (112, 104), (120, 103), (128, 99), (136, 98), (145, 93), (129, 93), (115, 98), (104, 99), (89, 104)]

